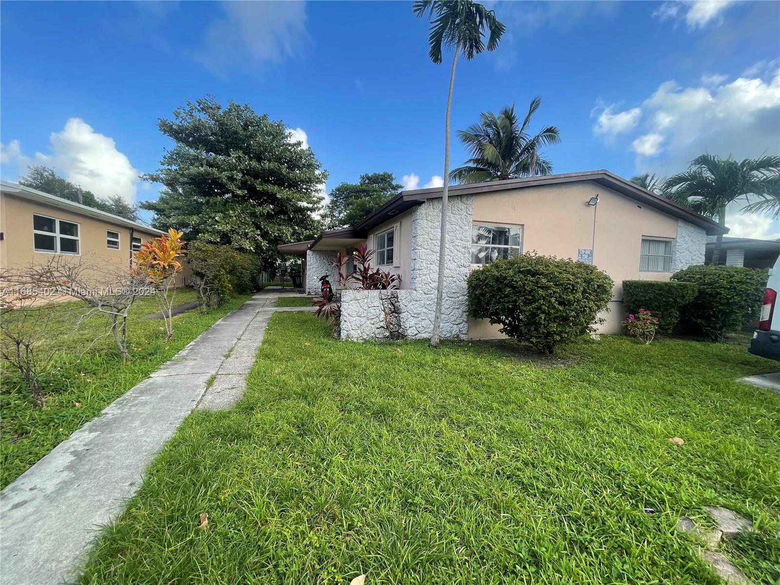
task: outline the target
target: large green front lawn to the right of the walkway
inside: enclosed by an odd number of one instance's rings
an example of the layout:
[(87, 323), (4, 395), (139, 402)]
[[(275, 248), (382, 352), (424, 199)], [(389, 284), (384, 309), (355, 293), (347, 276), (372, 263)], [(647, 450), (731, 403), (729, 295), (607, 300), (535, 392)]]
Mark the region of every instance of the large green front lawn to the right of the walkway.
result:
[[(624, 337), (562, 354), (339, 342), (275, 314), (244, 398), (190, 414), (80, 583), (717, 585), (679, 516), (780, 528), (780, 395), (735, 381), (776, 363)], [(759, 581), (776, 551), (730, 554)]]

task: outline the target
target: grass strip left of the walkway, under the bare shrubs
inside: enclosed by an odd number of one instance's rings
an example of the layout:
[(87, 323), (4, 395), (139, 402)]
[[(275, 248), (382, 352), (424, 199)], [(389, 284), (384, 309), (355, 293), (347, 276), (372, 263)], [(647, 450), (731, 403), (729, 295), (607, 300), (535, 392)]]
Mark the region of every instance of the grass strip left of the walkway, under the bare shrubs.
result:
[[(141, 321), (158, 311), (154, 298), (138, 301), (128, 325), (130, 363), (122, 363), (111, 335), (108, 319), (90, 317), (66, 338), (58, 338), (63, 351), (52, 363), (46, 379), (45, 408), (37, 406), (23, 387), (20, 376), (5, 368), (0, 381), (0, 456), (2, 487), (19, 477), (38, 459), (54, 449), (97, 415), (108, 404), (146, 378), (220, 317), (238, 308), (248, 296), (229, 299), (223, 307), (204, 312), (190, 310), (173, 317), (173, 339), (165, 339), (161, 320)], [(176, 293), (176, 304), (195, 300), (192, 289)], [(62, 303), (59, 314), (75, 313), (80, 303)]]

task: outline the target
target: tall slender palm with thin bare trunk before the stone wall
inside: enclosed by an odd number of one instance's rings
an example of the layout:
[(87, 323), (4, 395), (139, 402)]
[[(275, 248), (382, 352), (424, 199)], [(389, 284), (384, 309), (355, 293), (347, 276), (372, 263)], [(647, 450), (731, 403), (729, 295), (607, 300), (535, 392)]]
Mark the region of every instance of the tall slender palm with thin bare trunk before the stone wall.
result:
[(458, 55), (463, 52), (466, 60), (471, 60), (485, 50), (482, 40), (487, 29), (488, 51), (498, 47), (498, 41), (506, 27), (500, 23), (495, 12), (472, 0), (415, 0), (413, 12), (418, 17), (427, 14), (431, 20), (431, 34), (428, 44), (431, 49), (428, 56), (437, 65), (441, 63), (442, 48), (452, 47), (452, 69), (449, 73), (449, 93), (445, 113), (444, 139), (444, 186), (441, 189), (441, 234), (439, 239), (438, 280), (436, 283), (436, 312), (431, 346), (438, 347), (439, 328), (441, 328), (441, 300), (444, 296), (445, 258), (447, 246), (447, 201), (449, 189), (449, 115), (452, 110), (452, 88), (455, 87), (455, 67)]

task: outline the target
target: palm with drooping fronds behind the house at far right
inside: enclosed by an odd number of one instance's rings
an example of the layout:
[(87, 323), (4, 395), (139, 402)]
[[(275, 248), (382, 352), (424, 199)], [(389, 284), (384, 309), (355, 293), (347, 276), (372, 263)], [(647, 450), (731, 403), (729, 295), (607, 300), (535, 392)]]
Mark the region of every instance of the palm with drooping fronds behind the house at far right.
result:
[[(664, 194), (701, 215), (717, 218), (718, 224), (725, 227), (727, 205), (744, 197), (744, 211), (771, 210), (772, 202), (778, 200), (778, 188), (780, 156), (735, 161), (731, 157), (724, 159), (716, 154), (702, 154), (691, 161), (686, 172), (666, 179)], [(751, 203), (751, 196), (758, 200)], [(712, 264), (720, 261), (722, 243), (723, 234), (718, 234)]]

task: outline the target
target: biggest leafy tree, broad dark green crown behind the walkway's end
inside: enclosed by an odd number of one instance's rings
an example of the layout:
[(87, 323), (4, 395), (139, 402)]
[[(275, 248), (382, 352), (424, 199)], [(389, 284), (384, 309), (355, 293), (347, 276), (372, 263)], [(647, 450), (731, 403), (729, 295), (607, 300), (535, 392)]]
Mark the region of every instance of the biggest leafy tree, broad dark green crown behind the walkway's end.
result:
[(314, 218), (328, 173), (309, 147), (293, 140), (284, 122), (258, 115), (233, 101), (223, 108), (207, 96), (161, 119), (158, 127), (175, 146), (158, 172), (162, 183), (153, 225), (187, 230), (187, 239), (221, 243), (254, 252), (264, 261), (280, 243), (317, 231)]

